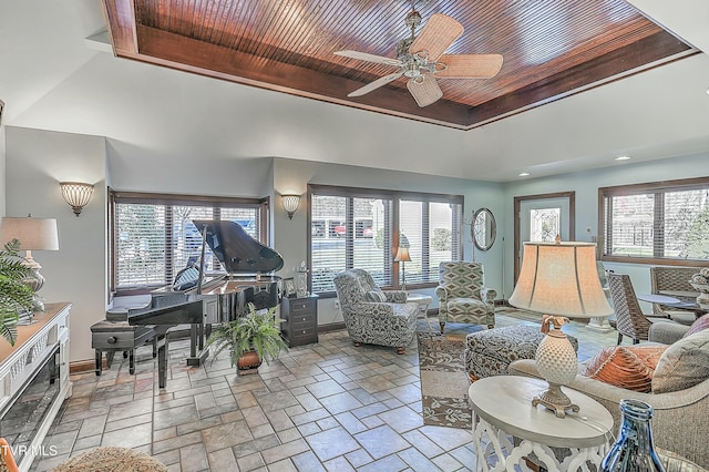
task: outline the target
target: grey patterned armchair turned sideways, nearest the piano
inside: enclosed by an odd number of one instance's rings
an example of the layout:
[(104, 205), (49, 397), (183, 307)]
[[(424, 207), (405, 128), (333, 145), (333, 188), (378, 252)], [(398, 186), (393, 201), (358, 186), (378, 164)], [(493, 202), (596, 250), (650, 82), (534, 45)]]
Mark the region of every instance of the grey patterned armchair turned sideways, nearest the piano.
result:
[(345, 326), (354, 346), (391, 346), (404, 353), (417, 331), (419, 306), (403, 290), (381, 290), (362, 269), (335, 276)]

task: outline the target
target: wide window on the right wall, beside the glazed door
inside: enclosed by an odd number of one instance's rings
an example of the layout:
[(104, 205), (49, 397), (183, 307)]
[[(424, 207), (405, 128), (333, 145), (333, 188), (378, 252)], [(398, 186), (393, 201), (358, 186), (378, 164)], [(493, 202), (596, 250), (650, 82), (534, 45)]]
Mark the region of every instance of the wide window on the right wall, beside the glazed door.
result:
[(604, 260), (709, 261), (709, 178), (606, 187), (599, 198)]

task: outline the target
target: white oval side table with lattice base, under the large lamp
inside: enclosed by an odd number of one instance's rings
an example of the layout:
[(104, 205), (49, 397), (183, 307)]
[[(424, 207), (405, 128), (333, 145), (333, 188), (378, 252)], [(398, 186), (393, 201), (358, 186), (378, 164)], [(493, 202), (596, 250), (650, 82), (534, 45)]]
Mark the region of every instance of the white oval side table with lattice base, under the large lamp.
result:
[[(564, 388), (580, 412), (557, 418), (543, 407), (532, 407), (532, 398), (546, 388), (540, 379), (496, 376), (480, 379), (467, 394), (473, 409), (475, 470), (485, 472), (527, 470), (524, 458), (534, 453), (549, 472), (576, 471), (590, 462), (598, 469), (608, 452), (613, 417), (596, 400)], [(513, 437), (520, 439), (514, 444)], [(568, 449), (559, 462), (551, 448)], [(489, 459), (497, 462), (491, 466)]]

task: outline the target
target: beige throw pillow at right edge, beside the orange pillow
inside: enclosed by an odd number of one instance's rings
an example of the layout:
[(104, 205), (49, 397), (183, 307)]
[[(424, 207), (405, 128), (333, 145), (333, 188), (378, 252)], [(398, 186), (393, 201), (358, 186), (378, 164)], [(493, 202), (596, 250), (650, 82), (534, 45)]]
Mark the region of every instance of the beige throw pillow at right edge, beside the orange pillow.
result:
[(685, 390), (709, 378), (709, 329), (671, 345), (653, 377), (653, 393)]

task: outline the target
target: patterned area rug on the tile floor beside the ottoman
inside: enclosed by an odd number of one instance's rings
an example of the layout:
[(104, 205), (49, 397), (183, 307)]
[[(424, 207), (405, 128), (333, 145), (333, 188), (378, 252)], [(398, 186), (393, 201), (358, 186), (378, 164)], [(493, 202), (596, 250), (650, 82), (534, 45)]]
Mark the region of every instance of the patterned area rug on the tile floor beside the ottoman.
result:
[(470, 382), (463, 362), (465, 335), (482, 328), (465, 326), (445, 335), (419, 331), (419, 369), (423, 423), (436, 427), (470, 428), (472, 411), (467, 403)]

